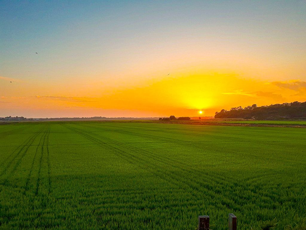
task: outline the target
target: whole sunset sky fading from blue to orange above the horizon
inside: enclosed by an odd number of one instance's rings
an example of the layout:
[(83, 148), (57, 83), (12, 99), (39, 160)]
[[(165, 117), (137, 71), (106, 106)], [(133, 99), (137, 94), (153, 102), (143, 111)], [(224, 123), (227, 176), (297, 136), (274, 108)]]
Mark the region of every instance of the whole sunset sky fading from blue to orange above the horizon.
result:
[(304, 102), (305, 12), (306, 1), (2, 0), (0, 117)]

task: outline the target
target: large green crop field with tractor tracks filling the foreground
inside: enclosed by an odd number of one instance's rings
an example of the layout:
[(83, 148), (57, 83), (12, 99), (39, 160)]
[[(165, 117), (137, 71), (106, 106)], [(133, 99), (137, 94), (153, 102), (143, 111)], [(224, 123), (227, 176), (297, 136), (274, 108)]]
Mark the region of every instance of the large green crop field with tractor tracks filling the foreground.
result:
[(304, 128), (0, 125), (0, 229), (276, 229), (306, 217)]

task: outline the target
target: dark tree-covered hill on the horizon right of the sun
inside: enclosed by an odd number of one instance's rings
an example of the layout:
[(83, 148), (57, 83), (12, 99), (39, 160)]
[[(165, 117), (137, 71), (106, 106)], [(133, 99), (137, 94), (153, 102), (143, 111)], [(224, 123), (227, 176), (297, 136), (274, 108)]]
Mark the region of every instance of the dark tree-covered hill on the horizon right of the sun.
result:
[(222, 109), (220, 112), (215, 113), (215, 118), (255, 120), (306, 119), (306, 102), (291, 102), (260, 107), (253, 104), (245, 108), (239, 106), (231, 108), (229, 111)]

